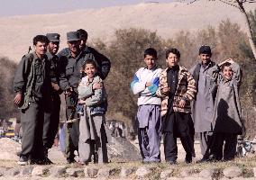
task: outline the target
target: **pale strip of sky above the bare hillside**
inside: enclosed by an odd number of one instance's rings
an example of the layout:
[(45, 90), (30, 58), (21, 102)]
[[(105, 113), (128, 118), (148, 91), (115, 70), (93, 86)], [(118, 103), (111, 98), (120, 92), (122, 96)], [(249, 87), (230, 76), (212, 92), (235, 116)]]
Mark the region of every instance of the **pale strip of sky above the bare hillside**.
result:
[(0, 16), (54, 14), (86, 8), (171, 1), (172, 0), (0, 0)]

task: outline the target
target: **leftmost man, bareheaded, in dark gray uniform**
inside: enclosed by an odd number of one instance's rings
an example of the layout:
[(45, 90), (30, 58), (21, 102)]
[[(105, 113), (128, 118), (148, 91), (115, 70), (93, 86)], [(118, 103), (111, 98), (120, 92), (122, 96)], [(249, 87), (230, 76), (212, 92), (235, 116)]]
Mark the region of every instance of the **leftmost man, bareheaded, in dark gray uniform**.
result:
[(19, 165), (47, 164), (42, 144), (43, 120), (52, 108), (50, 61), (45, 55), (49, 40), (44, 35), (33, 38), (35, 51), (23, 56), (14, 76), (14, 103), (21, 109), (23, 128)]

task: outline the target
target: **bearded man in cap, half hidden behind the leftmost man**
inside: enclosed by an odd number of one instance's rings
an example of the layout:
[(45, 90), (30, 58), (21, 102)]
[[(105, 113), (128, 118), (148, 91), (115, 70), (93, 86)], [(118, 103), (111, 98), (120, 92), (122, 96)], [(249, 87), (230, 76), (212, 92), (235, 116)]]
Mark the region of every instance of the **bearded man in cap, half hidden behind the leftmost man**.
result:
[(57, 134), (59, 127), (59, 110), (60, 110), (60, 98), (59, 94), (62, 91), (59, 88), (59, 74), (57, 72), (58, 56), (56, 55), (59, 50), (59, 34), (58, 33), (47, 33), (49, 45), (48, 51), (46, 53), (48, 59), (50, 60), (50, 79), (52, 86), (52, 103), (53, 109), (50, 113), (50, 117), (44, 118), (43, 123), (43, 147), (45, 156), (48, 156), (48, 149), (52, 147), (54, 143), (54, 138)]

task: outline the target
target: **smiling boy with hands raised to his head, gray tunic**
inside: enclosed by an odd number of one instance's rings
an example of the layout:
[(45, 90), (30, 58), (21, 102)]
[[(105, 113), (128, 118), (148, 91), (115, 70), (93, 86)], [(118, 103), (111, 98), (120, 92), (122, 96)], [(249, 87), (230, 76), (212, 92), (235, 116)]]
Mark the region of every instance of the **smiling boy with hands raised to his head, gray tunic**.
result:
[[(241, 105), (239, 87), (242, 71), (233, 59), (227, 59), (219, 64), (220, 71), (215, 71), (217, 77), (216, 100), (214, 112), (214, 141), (211, 147), (215, 160), (232, 160), (235, 156), (237, 135), (242, 134)], [(224, 143), (225, 141), (225, 143)], [(223, 150), (224, 146), (224, 150)]]

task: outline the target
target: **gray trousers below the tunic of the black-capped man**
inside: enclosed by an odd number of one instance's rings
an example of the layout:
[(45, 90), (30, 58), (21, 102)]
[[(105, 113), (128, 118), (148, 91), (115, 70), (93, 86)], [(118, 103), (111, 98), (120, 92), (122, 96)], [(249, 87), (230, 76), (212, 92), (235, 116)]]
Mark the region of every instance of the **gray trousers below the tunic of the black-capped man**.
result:
[(213, 131), (200, 132), (200, 148), (203, 157), (208, 157), (210, 154), (210, 146), (212, 144)]

